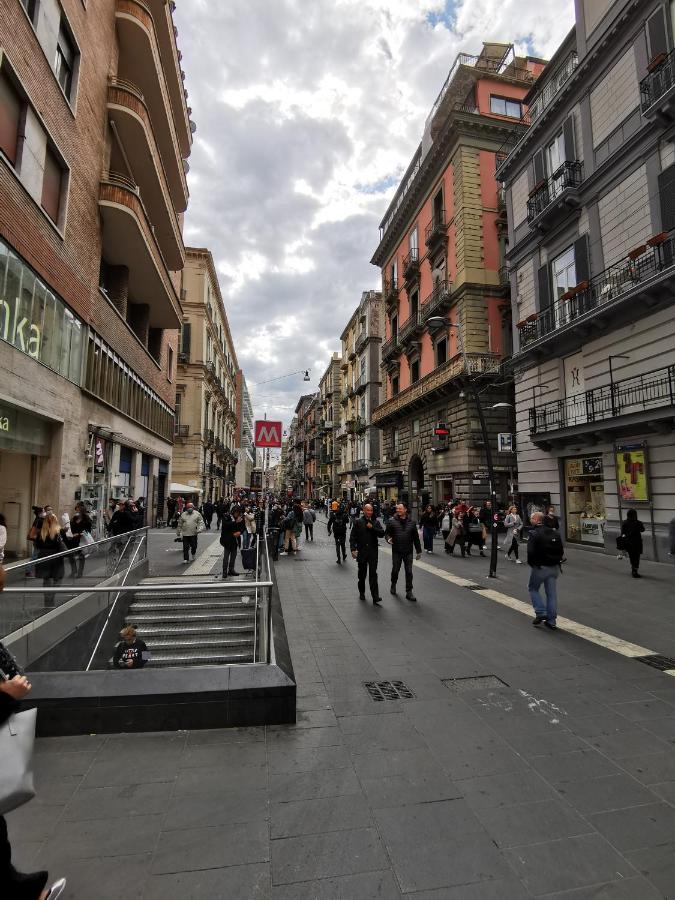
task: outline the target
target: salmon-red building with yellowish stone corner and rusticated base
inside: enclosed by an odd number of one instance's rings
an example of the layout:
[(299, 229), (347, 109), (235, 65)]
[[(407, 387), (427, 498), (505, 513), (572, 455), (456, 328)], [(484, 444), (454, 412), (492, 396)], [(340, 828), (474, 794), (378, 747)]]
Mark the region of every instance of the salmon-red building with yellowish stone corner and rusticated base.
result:
[[(375, 483), (385, 497), (408, 502), (414, 516), (428, 502), (488, 495), (467, 377), (481, 382), (498, 496), (510, 493), (513, 454), (497, 449), (507, 411), (492, 408), (510, 401), (501, 363), (511, 343), (505, 209), (494, 173), (541, 68), (509, 44), (460, 54), (380, 226), (372, 262), (382, 271), (386, 339), (383, 399), (372, 416), (382, 429)], [(439, 424), (449, 432), (443, 440)]]

